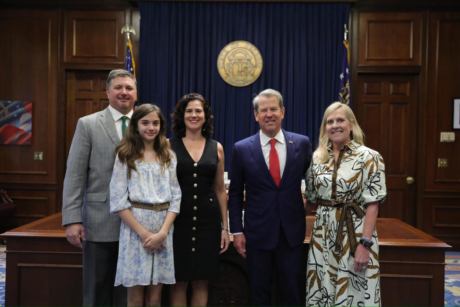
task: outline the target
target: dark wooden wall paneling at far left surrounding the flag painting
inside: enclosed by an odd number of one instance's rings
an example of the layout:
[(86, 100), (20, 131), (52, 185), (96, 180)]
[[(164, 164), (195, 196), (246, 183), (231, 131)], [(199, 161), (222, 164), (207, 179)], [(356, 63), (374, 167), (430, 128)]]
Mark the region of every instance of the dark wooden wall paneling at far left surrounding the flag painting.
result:
[[(56, 182), (58, 14), (56, 11), (3, 10), (8, 29), (0, 49), (3, 100), (33, 101), (32, 145), (0, 145), (0, 182)], [(42, 151), (43, 160), (34, 160)]]

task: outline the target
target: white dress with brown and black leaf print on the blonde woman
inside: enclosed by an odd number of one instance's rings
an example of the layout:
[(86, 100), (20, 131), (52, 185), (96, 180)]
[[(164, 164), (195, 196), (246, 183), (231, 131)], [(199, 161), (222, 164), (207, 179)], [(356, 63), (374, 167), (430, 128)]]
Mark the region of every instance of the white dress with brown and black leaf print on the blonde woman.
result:
[[(318, 203), (307, 265), (306, 306), (381, 306), (377, 231), (368, 268), (355, 272), (354, 252), (362, 235), (366, 204), (386, 196), (385, 164), (377, 151), (351, 141), (337, 162), (313, 157), (305, 198)], [(339, 232), (338, 232), (339, 229)]]

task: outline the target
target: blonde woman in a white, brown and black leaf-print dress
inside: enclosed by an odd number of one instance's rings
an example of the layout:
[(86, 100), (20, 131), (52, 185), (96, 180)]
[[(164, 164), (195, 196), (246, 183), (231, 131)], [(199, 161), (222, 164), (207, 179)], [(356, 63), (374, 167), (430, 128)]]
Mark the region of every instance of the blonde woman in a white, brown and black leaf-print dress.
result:
[(307, 264), (306, 306), (381, 306), (375, 221), (385, 200), (382, 156), (346, 104), (324, 112), (306, 174), (305, 212), (316, 209)]

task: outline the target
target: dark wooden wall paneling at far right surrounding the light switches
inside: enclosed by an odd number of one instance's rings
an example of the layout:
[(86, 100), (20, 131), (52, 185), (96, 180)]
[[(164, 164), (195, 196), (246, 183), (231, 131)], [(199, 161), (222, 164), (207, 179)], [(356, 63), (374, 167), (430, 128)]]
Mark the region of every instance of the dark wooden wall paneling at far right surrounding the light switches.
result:
[[(453, 98), (460, 98), (460, 11), (430, 12), (426, 82), (424, 231), (460, 249), (460, 133), (452, 130)], [(454, 132), (455, 141), (440, 141)], [(448, 167), (437, 166), (447, 158)]]

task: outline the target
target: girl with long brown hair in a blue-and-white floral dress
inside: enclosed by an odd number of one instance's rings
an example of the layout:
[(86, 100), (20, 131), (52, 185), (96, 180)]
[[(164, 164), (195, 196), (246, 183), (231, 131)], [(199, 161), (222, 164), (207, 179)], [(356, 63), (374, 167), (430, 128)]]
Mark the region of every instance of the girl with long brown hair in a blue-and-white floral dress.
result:
[(116, 147), (110, 213), (121, 218), (115, 286), (128, 287), (128, 306), (160, 306), (162, 284), (174, 284), (173, 221), (181, 191), (177, 160), (161, 110), (142, 104)]

